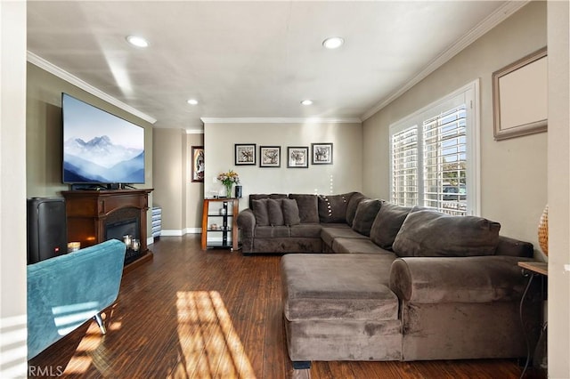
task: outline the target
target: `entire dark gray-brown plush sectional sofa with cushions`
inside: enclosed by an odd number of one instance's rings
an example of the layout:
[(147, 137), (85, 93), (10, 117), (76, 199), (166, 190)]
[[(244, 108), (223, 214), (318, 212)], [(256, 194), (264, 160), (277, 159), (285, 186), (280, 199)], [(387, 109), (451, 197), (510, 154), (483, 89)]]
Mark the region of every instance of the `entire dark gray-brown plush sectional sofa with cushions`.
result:
[[(533, 246), (500, 236), (497, 222), (352, 192), (252, 196), (238, 225), (244, 254), (305, 253), (281, 258), (297, 368), (312, 360), (520, 358), (525, 337), (536, 340), (538, 330), (520, 321), (526, 278), (517, 267)], [(523, 319), (538, 326), (533, 291)]]

